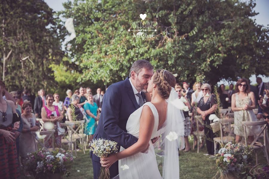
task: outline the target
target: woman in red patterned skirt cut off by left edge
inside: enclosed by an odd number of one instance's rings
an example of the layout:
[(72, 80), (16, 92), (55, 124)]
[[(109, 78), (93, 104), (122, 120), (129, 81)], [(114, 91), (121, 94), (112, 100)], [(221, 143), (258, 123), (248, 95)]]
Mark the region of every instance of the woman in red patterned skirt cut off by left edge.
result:
[[(5, 95), (5, 84), (0, 80), (0, 94)], [(13, 98), (11, 96), (11, 98)], [(17, 158), (17, 150), (15, 135), (12, 125), (19, 121), (16, 114), (16, 107), (13, 101), (0, 98), (0, 176), (1, 178), (20, 178), (19, 162)]]

